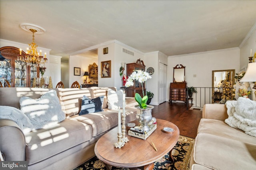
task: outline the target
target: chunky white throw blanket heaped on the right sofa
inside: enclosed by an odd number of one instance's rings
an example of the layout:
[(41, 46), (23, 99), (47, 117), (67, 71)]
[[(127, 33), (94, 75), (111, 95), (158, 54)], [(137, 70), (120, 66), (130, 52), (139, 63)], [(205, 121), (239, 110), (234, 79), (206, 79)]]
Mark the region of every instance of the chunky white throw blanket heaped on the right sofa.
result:
[(225, 122), (256, 137), (256, 101), (240, 97), (237, 101), (227, 101), (226, 107), (228, 119)]

